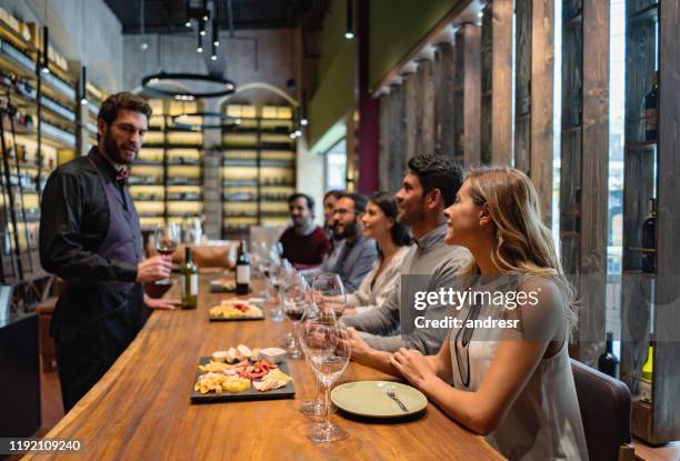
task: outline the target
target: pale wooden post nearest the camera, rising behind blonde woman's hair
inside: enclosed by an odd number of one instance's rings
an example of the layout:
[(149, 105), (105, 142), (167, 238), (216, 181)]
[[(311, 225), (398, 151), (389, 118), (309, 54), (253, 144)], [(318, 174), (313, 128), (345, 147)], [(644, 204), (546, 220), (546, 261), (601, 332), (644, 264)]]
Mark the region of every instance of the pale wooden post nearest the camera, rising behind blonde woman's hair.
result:
[[(550, 226), (554, 150), (554, 0), (532, 0), (532, 10), (529, 170), (539, 194), (543, 222)], [(520, 168), (518, 146), (514, 152), (516, 168)]]

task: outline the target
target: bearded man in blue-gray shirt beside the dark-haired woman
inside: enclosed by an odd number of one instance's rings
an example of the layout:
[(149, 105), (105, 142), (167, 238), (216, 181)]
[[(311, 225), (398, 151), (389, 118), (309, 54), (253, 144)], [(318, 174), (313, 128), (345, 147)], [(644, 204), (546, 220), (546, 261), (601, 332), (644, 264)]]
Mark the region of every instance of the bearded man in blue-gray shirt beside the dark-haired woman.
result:
[(340, 196), (333, 210), (336, 247), (321, 265), (303, 271), (310, 282), (320, 273), (336, 272), (344, 282), (347, 293), (352, 293), (371, 271), (378, 249), (373, 239), (363, 237), (360, 218), (366, 203), (366, 197), (359, 193)]

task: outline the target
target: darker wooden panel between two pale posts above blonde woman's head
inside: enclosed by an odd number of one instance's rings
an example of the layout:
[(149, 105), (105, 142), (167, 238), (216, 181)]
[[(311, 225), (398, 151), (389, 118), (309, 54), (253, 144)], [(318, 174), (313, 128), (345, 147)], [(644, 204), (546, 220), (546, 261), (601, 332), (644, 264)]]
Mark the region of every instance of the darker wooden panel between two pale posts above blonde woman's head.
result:
[(516, 0), (514, 168), (531, 169), (531, 12), (533, 0)]

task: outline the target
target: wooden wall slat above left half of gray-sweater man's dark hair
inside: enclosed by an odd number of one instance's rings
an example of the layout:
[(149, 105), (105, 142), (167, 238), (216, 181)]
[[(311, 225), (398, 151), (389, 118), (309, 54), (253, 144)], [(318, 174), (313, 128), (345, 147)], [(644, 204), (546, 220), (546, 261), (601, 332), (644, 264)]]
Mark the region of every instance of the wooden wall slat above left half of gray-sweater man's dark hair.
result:
[(418, 64), (417, 73), (417, 141), (418, 154), (434, 151), (434, 86), (432, 81), (432, 61), (423, 59)]

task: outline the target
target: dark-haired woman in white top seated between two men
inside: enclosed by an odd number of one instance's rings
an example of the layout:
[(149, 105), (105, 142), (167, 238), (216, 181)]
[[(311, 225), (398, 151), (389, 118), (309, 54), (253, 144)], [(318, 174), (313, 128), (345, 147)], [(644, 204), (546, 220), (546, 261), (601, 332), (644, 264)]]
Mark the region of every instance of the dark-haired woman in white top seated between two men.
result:
[(389, 192), (377, 192), (361, 217), (363, 235), (378, 243), (380, 257), (359, 290), (347, 297), (347, 307), (362, 312), (380, 305), (399, 280), (400, 269), (413, 239), (406, 224), (397, 221), (397, 200)]

